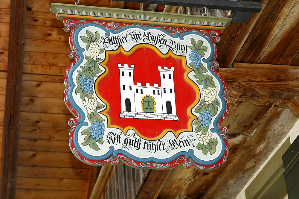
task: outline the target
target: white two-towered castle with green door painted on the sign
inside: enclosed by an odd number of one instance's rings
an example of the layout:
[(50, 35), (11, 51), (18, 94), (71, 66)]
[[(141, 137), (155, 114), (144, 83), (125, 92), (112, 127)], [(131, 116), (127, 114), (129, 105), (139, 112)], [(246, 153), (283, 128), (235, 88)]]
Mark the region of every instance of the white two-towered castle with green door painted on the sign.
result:
[(176, 98), (174, 90), (174, 67), (157, 67), (160, 71), (159, 83), (137, 82), (134, 85), (135, 65), (118, 64), (120, 76), (120, 118), (179, 120), (176, 115)]

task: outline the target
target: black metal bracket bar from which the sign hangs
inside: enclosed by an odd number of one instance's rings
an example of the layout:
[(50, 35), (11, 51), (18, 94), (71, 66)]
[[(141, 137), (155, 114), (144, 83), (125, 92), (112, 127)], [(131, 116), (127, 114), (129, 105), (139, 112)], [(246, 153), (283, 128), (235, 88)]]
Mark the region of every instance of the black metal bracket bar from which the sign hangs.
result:
[[(123, 1), (123, 0), (116, 0)], [(233, 10), (232, 23), (246, 23), (251, 13), (259, 13), (262, 10), (262, 4), (259, 0), (125, 0), (135, 3), (161, 4), (185, 7), (210, 8), (219, 10)]]

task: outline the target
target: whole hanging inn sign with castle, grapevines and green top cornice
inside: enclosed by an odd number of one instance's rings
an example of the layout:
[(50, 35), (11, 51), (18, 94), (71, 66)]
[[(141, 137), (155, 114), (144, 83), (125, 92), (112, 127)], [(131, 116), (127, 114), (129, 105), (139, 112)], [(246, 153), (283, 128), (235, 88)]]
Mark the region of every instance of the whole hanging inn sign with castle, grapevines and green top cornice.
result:
[(145, 169), (225, 162), (215, 42), (231, 19), (56, 3), (51, 12), (70, 31), (64, 100), (78, 159)]

